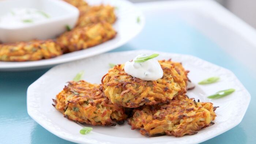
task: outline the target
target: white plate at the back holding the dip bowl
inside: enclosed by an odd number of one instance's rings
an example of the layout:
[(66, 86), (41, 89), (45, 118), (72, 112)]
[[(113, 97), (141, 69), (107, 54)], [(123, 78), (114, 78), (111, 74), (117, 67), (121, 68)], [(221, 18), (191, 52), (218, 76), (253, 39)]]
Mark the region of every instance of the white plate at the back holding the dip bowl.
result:
[[(116, 49), (127, 43), (140, 33), (145, 24), (144, 15), (127, 0), (86, 0), (90, 5), (110, 4), (116, 8), (117, 21), (113, 27), (117, 31), (117, 36), (107, 42), (94, 46), (89, 49), (79, 50), (72, 53), (63, 54), (61, 56), (39, 61), (26, 62), (3, 62), (0, 61), (0, 71), (19, 71), (28, 69), (38, 69), (50, 67), (52, 65), (64, 62), (80, 60), (82, 58), (95, 56)], [(140, 22), (137, 22), (137, 18)]]

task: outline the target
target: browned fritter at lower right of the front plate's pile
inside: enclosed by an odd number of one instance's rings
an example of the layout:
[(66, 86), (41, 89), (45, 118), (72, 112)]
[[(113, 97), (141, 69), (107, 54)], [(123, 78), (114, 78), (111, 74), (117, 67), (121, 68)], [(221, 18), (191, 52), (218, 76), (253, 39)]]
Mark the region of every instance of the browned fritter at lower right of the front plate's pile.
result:
[(214, 124), (212, 103), (195, 102), (193, 99), (176, 97), (169, 104), (142, 106), (133, 110), (128, 124), (132, 129), (140, 129), (144, 136), (166, 134), (181, 137), (196, 134), (197, 130)]

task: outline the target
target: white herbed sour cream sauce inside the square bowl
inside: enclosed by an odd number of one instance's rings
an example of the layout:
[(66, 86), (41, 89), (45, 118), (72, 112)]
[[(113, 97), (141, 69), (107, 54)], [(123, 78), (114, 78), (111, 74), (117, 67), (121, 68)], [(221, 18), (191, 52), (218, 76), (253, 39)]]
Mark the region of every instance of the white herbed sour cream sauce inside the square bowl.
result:
[(35, 8), (14, 8), (0, 17), (0, 26), (16, 28), (49, 19), (50, 16), (44, 11)]

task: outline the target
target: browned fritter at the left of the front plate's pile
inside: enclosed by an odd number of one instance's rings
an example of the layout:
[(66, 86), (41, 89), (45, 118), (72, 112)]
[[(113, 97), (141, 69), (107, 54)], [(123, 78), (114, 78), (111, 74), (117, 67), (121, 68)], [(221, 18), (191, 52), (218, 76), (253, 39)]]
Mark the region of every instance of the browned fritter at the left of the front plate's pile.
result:
[(53, 101), (69, 120), (86, 124), (115, 126), (127, 117), (122, 107), (113, 105), (104, 96), (100, 85), (83, 80), (69, 82)]

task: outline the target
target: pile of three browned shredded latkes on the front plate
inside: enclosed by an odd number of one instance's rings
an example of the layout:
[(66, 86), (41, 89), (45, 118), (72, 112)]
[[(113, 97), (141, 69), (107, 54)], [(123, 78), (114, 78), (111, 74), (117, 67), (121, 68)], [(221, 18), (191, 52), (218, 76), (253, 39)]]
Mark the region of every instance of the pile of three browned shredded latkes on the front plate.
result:
[(212, 103), (188, 98), (188, 71), (181, 63), (159, 61), (163, 77), (145, 81), (125, 73), (124, 64), (109, 69), (101, 84), (83, 80), (65, 86), (54, 107), (70, 120), (91, 125), (123, 124), (145, 136), (166, 134), (181, 137), (214, 124)]

